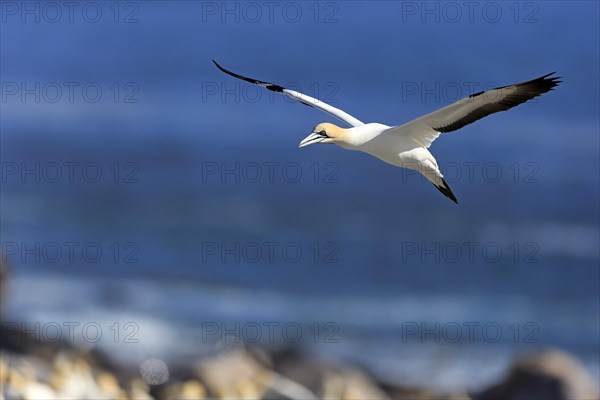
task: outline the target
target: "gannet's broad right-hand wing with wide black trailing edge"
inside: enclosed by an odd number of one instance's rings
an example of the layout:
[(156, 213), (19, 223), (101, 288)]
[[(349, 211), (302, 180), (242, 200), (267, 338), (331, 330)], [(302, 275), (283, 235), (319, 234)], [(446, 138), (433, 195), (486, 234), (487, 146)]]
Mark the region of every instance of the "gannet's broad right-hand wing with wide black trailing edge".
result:
[(506, 111), (525, 103), (557, 86), (560, 77), (554, 72), (527, 82), (479, 92), (424, 115), (404, 125), (387, 130), (390, 134), (406, 135), (422, 147), (429, 147), (440, 133), (452, 132), (498, 111)]

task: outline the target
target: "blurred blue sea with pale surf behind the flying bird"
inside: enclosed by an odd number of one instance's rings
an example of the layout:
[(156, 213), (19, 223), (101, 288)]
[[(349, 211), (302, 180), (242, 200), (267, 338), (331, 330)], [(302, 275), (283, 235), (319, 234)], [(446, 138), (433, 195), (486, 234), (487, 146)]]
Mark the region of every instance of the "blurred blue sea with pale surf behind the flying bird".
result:
[[(251, 342), (480, 390), (558, 348), (598, 379), (599, 5), (473, 4), (2, 1), (3, 321), (133, 368)], [(389, 125), (564, 83), (436, 140), (457, 206), (299, 150), (336, 121), (212, 59)]]

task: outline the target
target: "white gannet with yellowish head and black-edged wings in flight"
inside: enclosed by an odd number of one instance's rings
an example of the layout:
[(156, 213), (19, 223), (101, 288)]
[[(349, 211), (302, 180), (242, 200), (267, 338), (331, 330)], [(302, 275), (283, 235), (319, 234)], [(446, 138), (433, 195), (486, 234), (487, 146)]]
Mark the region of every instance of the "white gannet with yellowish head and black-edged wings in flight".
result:
[(282, 93), (310, 107), (324, 111), (350, 125), (342, 128), (324, 122), (315, 126), (310, 135), (298, 147), (315, 143), (334, 143), (347, 150), (362, 151), (397, 167), (416, 170), (450, 200), (458, 200), (440, 172), (437, 161), (427, 150), (441, 133), (452, 132), (498, 111), (525, 103), (557, 86), (560, 77), (550, 77), (551, 72), (527, 82), (501, 86), (488, 91), (474, 93), (449, 106), (407, 122), (388, 126), (377, 122), (367, 123), (313, 97), (286, 89), (274, 83), (248, 78), (231, 72), (213, 63), (221, 71), (235, 78)]

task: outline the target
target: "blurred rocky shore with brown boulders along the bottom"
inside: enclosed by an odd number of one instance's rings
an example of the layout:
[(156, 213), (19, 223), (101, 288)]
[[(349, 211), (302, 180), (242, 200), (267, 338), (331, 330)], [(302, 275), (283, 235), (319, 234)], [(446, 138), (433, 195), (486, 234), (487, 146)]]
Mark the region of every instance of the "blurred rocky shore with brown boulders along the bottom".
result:
[[(0, 286), (5, 286), (4, 267), (0, 272)], [(1, 290), (4, 294), (5, 287)], [(308, 358), (293, 348), (267, 352), (240, 346), (184, 367), (150, 359), (132, 369), (97, 350), (43, 341), (15, 332), (17, 325), (1, 316), (0, 322), (0, 400), (600, 398), (584, 367), (555, 349), (521, 355), (501, 381), (477, 393), (440, 393), (378, 382), (358, 366)]]

